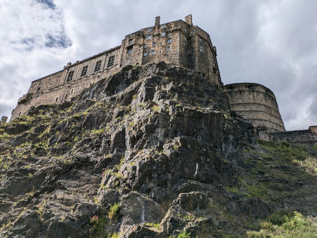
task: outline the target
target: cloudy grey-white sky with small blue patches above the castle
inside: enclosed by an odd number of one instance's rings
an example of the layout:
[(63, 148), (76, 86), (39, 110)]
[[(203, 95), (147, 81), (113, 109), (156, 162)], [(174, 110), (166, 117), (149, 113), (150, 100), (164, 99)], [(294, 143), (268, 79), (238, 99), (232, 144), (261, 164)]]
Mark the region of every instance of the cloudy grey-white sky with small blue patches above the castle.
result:
[(225, 84), (256, 82), (277, 98), (287, 130), (317, 125), (316, 0), (1, 0), (0, 116), (32, 80), (193, 15), (217, 47)]

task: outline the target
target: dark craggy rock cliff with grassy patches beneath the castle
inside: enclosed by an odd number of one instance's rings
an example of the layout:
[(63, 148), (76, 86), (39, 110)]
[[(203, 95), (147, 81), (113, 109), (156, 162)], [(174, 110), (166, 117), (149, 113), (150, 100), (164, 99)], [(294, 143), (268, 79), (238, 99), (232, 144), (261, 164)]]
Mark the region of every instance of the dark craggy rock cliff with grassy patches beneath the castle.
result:
[(205, 77), (126, 67), (0, 126), (0, 237), (233, 237), (316, 215), (316, 148), (253, 131)]

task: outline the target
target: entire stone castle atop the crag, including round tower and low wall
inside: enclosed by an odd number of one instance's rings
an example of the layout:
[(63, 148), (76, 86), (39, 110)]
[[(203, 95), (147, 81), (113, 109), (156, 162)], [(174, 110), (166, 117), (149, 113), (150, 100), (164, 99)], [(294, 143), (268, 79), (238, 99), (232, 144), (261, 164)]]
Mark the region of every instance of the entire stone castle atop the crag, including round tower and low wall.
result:
[[(92, 83), (111, 76), (127, 65), (142, 66), (165, 61), (181, 65), (207, 77), (223, 87), (230, 109), (249, 120), (255, 137), (268, 141), (289, 141), (317, 145), (317, 126), (308, 130), (286, 131), (274, 93), (256, 83), (234, 83), (223, 86), (217, 63), (216, 47), (207, 32), (192, 24), (192, 16), (160, 24), (126, 35), (119, 46), (87, 59), (68, 63), (63, 70), (32, 81), (12, 111), (11, 119), (26, 115), (31, 107), (62, 103), (81, 93)], [(5, 123), (3, 117), (0, 123)]]

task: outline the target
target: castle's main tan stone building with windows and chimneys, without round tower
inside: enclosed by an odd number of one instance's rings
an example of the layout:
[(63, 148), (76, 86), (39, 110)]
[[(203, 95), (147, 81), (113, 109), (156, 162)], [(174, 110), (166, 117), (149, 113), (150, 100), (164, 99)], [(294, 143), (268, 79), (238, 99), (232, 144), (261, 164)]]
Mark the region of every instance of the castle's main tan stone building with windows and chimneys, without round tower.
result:
[(70, 100), (84, 88), (107, 78), (127, 65), (141, 66), (165, 61), (182, 65), (222, 86), (216, 48), (207, 32), (192, 25), (192, 16), (155, 25), (126, 35), (120, 46), (68, 63), (63, 70), (32, 81), (28, 93), (18, 101), (12, 119), (25, 115), (32, 106)]

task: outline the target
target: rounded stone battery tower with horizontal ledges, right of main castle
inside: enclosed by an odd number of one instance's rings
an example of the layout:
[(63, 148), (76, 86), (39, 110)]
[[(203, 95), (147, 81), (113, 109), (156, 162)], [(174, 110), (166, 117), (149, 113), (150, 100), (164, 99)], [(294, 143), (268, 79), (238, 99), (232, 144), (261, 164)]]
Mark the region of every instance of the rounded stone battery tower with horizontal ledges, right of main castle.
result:
[(232, 83), (224, 88), (231, 111), (250, 121), (257, 137), (261, 138), (264, 131), (285, 131), (276, 98), (270, 89), (257, 83)]

